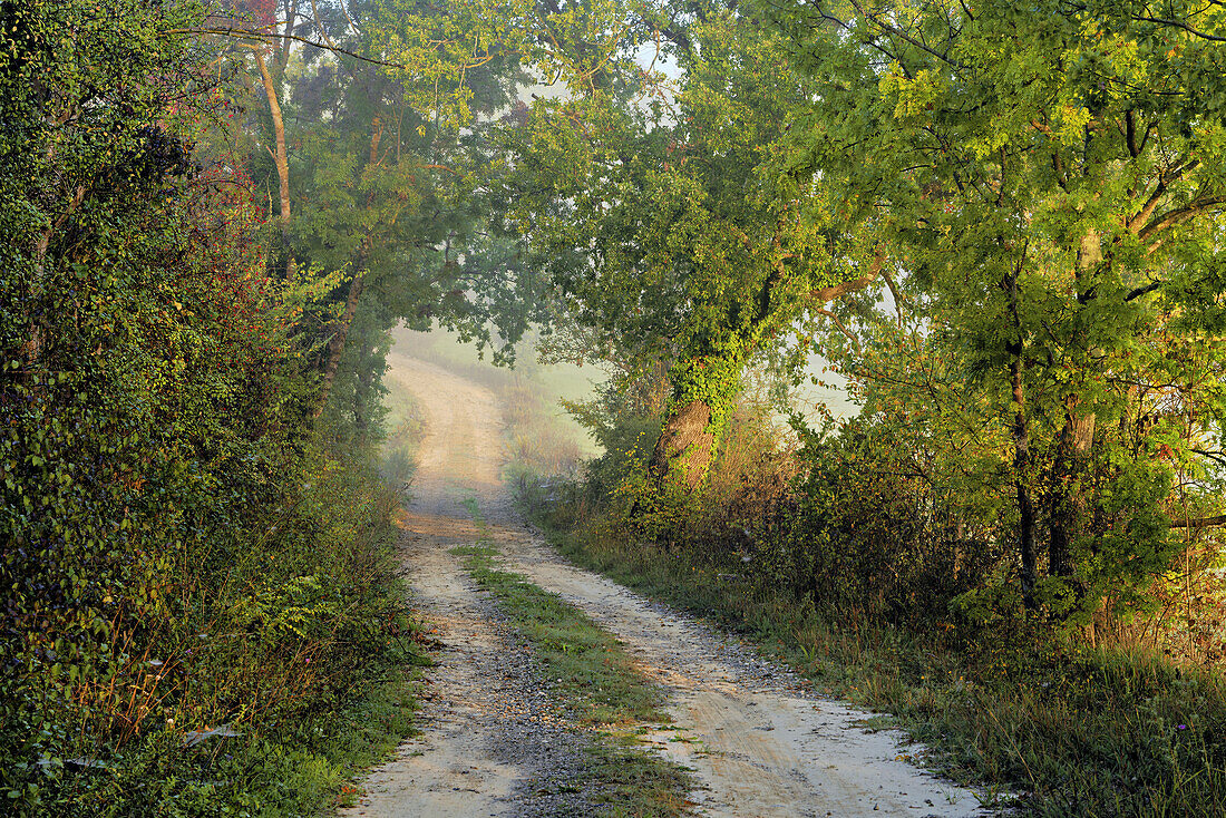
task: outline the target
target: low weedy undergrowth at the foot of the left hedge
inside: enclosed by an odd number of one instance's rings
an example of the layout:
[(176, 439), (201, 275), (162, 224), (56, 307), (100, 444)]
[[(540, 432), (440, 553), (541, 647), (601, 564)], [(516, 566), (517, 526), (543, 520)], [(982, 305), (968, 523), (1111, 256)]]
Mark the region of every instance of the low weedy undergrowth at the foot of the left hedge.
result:
[(201, 542), (156, 616), (116, 616), (104, 672), (27, 677), (4, 711), (10, 814), (316, 814), (409, 732), (428, 660), (391, 559), (395, 499), (356, 461), (300, 468), (313, 480), (226, 568)]

